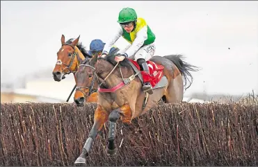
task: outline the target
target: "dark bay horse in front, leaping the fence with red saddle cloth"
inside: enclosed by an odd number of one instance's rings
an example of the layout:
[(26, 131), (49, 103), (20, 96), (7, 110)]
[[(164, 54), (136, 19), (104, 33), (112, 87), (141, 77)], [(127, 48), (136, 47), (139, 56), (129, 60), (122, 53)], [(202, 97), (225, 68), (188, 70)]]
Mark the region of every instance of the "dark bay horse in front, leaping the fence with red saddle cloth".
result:
[[(153, 87), (153, 94), (143, 92), (143, 82), (139, 67), (130, 59), (116, 63), (114, 54), (105, 58), (93, 56), (91, 60), (83, 62), (84, 67), (76, 72), (78, 82), (84, 82), (90, 87), (88, 78), (96, 76), (99, 84), (97, 109), (94, 114), (94, 124), (88, 135), (81, 155), (74, 164), (86, 164), (86, 157), (90, 153), (92, 143), (104, 123), (109, 121), (108, 145), (106, 152), (113, 155), (116, 152), (115, 131), (118, 118), (123, 123), (130, 124), (131, 120), (148, 112), (157, 105), (161, 98), (166, 103), (181, 103), (183, 100), (184, 86), (187, 81), (191, 86), (193, 77), (190, 71), (198, 71), (197, 67), (182, 60), (182, 55), (154, 56), (148, 61), (152, 74), (159, 78)], [(117, 68), (118, 67), (118, 68)], [(81, 73), (81, 74), (79, 74)], [(136, 77), (137, 76), (137, 77)], [(183, 76), (185, 82), (183, 82)], [(190, 77), (190, 79), (188, 78)], [(188, 88), (187, 87), (187, 88)]]

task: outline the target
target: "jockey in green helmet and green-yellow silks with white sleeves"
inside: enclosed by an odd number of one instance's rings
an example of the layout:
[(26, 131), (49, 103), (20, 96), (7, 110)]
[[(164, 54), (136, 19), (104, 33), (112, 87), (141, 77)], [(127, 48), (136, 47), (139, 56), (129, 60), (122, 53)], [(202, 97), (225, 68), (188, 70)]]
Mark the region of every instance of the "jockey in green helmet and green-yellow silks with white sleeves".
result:
[(115, 61), (120, 62), (128, 56), (134, 55), (134, 60), (139, 64), (140, 71), (143, 74), (143, 91), (148, 94), (153, 94), (152, 85), (150, 84), (150, 71), (146, 60), (150, 60), (155, 53), (156, 46), (154, 41), (156, 39), (154, 33), (147, 25), (145, 19), (137, 18), (136, 11), (132, 8), (123, 8), (118, 15), (118, 23), (120, 27), (113, 38), (105, 45), (101, 57), (104, 58), (111, 46), (119, 39), (124, 37), (131, 44), (131, 46), (124, 49), (124, 53), (117, 53)]

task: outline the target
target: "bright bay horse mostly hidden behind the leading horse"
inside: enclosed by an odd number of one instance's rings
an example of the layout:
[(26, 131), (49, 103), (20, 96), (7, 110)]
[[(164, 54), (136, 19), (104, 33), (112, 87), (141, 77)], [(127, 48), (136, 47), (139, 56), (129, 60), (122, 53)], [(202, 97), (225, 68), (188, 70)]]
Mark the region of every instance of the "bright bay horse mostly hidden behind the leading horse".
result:
[[(80, 37), (80, 36), (79, 36)], [(74, 80), (76, 83), (75, 73), (79, 67), (79, 60), (84, 60), (85, 58), (90, 58), (90, 55), (86, 51), (86, 47), (83, 46), (81, 42), (79, 42), (79, 37), (76, 39), (68, 39), (65, 42), (65, 35), (61, 37), (61, 49), (57, 52), (57, 62), (52, 71), (53, 78), (55, 81), (60, 82), (65, 79), (65, 75), (70, 73), (74, 74)], [(75, 87), (79, 89), (78, 87)], [(97, 91), (97, 87), (95, 87)], [(96, 91), (92, 91), (92, 94), (88, 94), (88, 98), (86, 99), (87, 103), (97, 103), (97, 93)], [(70, 94), (71, 95), (71, 94)], [(82, 93), (79, 91), (74, 94), (74, 99), (76, 96), (82, 96)], [(69, 97), (70, 98), (70, 97)], [(76, 102), (76, 100), (74, 100)]]

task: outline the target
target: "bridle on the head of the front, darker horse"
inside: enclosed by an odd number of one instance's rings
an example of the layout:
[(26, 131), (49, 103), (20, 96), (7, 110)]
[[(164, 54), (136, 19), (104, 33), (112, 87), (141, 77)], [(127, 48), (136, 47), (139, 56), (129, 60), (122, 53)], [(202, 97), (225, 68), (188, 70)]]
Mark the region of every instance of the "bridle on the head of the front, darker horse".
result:
[[(85, 98), (85, 100), (87, 100), (87, 98), (88, 98), (88, 96), (90, 96), (90, 94), (92, 94), (92, 93), (95, 93), (95, 92), (97, 92), (97, 88), (96, 89), (93, 89), (93, 87), (94, 87), (94, 83), (95, 83), (95, 78), (97, 78), (97, 74), (96, 74), (96, 72), (95, 72), (95, 68), (94, 67), (92, 67), (91, 65), (88, 65), (88, 64), (80, 64), (79, 65), (79, 67), (80, 66), (85, 66), (85, 67), (90, 67), (91, 69), (93, 69), (93, 79), (92, 79), (92, 81), (91, 81), (91, 83), (90, 83), (90, 87), (76, 87), (76, 91), (78, 90), (78, 91), (81, 91), (81, 93), (83, 94), (83, 96), (84, 96), (84, 98)], [(97, 78), (97, 83), (98, 83), (98, 85), (99, 85), (99, 79)], [(81, 89), (89, 89), (89, 91), (88, 91), (88, 93), (87, 94), (85, 94)]]

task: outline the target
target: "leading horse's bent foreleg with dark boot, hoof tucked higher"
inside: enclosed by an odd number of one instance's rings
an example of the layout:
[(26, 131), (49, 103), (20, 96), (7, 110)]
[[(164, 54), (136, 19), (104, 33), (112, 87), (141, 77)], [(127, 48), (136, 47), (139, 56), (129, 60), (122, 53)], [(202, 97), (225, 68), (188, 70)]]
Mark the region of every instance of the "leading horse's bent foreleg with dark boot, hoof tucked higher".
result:
[(114, 155), (116, 152), (115, 148), (115, 131), (116, 131), (116, 122), (118, 121), (118, 118), (120, 118), (120, 114), (118, 109), (113, 110), (111, 114), (109, 114), (109, 131), (108, 131), (108, 146), (106, 148), (106, 152), (109, 155)]

